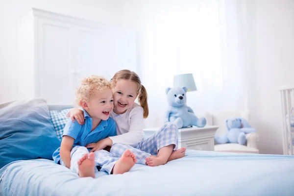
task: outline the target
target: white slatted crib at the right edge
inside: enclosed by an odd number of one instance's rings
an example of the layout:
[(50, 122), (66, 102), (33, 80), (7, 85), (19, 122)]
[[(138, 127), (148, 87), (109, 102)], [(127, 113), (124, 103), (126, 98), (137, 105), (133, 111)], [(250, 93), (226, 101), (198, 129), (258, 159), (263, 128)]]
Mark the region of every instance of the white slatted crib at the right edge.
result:
[(283, 119), (283, 151), (294, 155), (294, 85), (280, 88)]

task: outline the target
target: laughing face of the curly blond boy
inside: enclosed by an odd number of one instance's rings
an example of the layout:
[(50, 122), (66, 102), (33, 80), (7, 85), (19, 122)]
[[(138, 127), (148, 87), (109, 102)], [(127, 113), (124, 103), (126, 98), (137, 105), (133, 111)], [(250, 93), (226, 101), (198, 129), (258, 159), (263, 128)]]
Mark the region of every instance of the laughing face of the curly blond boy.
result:
[(105, 88), (100, 93), (96, 93), (87, 102), (88, 107), (84, 108), (90, 115), (90, 117), (107, 120), (110, 112), (113, 110), (113, 97), (112, 91), (109, 88)]

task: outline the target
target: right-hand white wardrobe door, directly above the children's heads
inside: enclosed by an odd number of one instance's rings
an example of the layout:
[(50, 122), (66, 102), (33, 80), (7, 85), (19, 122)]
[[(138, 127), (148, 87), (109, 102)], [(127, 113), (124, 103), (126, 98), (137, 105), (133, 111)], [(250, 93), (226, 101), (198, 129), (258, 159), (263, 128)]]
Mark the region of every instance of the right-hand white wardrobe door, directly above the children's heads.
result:
[(108, 80), (119, 70), (137, 71), (134, 34), (118, 29), (79, 27), (77, 31), (77, 80), (92, 74)]

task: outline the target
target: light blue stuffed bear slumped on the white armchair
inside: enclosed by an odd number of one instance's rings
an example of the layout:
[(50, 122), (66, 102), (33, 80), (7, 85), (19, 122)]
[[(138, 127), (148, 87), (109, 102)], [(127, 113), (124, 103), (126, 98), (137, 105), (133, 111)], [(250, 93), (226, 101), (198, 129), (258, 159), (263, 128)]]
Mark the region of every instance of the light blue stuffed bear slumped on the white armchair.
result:
[(245, 134), (256, 132), (256, 130), (243, 118), (228, 119), (226, 120), (226, 126), (229, 131), (226, 135), (215, 135), (215, 141), (218, 144), (237, 143), (245, 145)]

